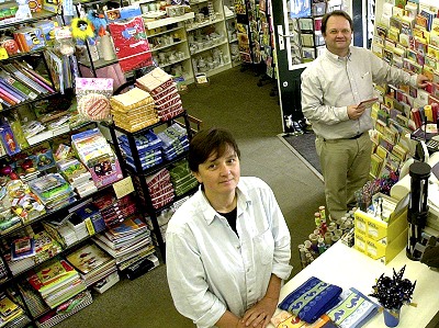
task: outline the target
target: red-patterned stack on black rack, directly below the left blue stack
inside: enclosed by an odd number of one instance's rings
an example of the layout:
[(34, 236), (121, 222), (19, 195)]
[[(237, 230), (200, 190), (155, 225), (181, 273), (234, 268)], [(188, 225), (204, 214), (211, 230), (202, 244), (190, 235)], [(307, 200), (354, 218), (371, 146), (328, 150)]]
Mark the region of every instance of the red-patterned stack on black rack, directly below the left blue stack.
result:
[(154, 208), (160, 208), (173, 201), (173, 185), (169, 171), (164, 168), (145, 178)]

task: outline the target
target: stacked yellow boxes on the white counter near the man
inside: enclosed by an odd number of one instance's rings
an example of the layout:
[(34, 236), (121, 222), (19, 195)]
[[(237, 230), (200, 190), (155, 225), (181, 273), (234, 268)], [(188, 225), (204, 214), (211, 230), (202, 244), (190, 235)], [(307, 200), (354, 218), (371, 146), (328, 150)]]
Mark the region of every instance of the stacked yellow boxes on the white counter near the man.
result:
[[(393, 200), (387, 196), (385, 199)], [(354, 213), (353, 247), (384, 264), (392, 261), (407, 246), (407, 210), (398, 206), (396, 200), (393, 201), (395, 211), (390, 214), (387, 220), (361, 210)]]

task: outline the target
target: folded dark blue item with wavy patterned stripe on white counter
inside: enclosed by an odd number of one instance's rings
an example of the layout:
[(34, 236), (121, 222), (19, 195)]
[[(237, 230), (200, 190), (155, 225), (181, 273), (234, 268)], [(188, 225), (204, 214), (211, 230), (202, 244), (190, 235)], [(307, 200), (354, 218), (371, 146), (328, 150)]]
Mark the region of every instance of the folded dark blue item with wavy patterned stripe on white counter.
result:
[(312, 324), (339, 302), (340, 294), (341, 287), (312, 276), (291, 292), (278, 307)]

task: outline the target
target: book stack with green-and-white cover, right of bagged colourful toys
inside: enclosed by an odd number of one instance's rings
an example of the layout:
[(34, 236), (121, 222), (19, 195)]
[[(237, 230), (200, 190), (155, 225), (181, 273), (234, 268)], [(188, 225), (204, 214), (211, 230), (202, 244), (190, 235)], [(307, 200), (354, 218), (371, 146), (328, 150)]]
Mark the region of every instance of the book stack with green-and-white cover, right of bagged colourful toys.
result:
[(76, 194), (59, 173), (48, 173), (29, 181), (31, 190), (49, 211), (57, 211), (75, 202)]

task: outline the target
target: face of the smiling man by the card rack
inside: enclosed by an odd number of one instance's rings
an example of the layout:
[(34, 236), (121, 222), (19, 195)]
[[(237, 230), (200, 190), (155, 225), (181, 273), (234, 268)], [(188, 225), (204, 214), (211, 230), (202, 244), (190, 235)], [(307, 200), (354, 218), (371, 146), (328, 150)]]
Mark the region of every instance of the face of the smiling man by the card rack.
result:
[(329, 52), (341, 57), (348, 55), (352, 30), (347, 19), (337, 15), (330, 16), (326, 22), (326, 33), (323, 36)]

